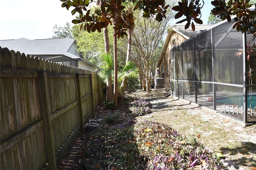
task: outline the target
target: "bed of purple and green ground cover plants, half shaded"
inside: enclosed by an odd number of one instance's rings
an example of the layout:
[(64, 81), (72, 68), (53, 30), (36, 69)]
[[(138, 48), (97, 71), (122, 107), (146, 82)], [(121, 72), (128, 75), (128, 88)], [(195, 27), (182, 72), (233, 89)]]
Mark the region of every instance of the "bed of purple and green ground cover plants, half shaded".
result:
[(148, 101), (136, 97), (124, 101), (132, 102), (118, 110), (96, 109), (104, 120), (101, 128), (79, 134), (59, 169), (224, 169), (221, 155), (209, 152), (196, 139), (186, 138), (170, 125), (136, 121), (138, 110), (150, 110)]

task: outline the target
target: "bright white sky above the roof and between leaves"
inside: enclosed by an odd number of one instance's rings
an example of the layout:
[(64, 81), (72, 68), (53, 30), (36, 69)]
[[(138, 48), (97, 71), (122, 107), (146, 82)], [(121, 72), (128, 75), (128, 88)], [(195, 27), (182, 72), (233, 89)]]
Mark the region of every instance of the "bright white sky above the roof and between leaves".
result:
[[(202, 0), (201, 0), (202, 1)], [(211, 0), (204, 0), (202, 20), (207, 24)], [(72, 23), (71, 10), (61, 7), (60, 0), (2, 0), (0, 5), (0, 40), (52, 38), (53, 26)], [(174, 23), (178, 22), (175, 20)], [(186, 23), (182, 23), (185, 25)]]

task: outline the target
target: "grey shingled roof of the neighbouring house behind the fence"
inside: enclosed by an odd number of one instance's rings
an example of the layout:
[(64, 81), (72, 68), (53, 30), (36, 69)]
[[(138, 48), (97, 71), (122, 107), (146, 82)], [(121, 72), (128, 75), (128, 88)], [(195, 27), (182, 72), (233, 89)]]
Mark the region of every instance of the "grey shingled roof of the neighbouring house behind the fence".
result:
[(75, 40), (71, 38), (41, 40), (20, 38), (16, 40), (0, 40), (0, 46), (29, 55), (65, 55), (75, 60), (82, 60), (81, 57), (68, 52), (74, 42)]

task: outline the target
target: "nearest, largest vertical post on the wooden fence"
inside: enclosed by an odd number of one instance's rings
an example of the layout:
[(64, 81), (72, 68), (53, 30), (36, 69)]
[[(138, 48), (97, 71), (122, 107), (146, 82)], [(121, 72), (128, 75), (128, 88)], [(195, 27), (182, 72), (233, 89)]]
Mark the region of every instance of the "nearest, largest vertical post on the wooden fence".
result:
[(41, 101), (41, 114), (44, 119), (44, 142), (46, 146), (46, 155), (49, 161), (50, 170), (56, 170), (56, 157), (54, 149), (54, 132), (52, 129), (52, 119), (50, 113), (50, 97), (48, 91), (48, 83), (45, 71), (39, 71), (39, 89), (40, 89), (40, 101)]

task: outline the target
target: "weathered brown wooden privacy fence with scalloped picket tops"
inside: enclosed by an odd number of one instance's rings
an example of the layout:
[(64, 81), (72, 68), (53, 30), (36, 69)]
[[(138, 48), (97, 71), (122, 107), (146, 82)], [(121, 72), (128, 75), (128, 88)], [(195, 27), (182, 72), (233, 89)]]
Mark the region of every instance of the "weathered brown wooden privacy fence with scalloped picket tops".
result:
[(0, 47), (1, 170), (54, 169), (102, 99), (95, 71)]

